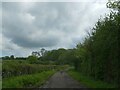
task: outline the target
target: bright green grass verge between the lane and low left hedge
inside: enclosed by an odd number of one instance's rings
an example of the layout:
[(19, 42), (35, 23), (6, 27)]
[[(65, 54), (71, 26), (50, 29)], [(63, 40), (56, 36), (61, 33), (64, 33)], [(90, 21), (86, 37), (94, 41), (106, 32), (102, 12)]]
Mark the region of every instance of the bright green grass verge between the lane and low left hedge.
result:
[(54, 73), (55, 71), (45, 71), (32, 75), (23, 75), (12, 78), (6, 78), (3, 79), (2, 81), (2, 87), (3, 88), (40, 87)]

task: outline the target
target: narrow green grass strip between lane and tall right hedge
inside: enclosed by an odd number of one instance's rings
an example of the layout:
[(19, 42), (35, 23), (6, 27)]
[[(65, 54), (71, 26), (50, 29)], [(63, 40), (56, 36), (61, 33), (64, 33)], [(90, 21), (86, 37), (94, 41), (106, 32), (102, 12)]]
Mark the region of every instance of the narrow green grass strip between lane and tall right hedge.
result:
[(108, 84), (103, 81), (95, 81), (94, 79), (88, 76), (84, 76), (81, 73), (74, 70), (68, 71), (68, 74), (88, 88), (115, 88), (115, 86), (112, 84)]

